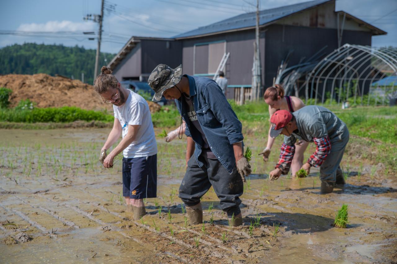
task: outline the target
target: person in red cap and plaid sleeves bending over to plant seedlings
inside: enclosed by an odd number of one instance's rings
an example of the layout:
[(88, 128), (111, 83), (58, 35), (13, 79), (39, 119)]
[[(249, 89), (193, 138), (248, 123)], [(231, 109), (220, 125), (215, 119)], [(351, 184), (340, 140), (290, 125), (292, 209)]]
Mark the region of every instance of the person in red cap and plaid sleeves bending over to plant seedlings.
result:
[(310, 105), (290, 113), (278, 110), (270, 118), (270, 136), (284, 135), (276, 168), (269, 173), (271, 180), (287, 174), (295, 154), (295, 142), (314, 142), (316, 151), (303, 164), (307, 173), (310, 167), (320, 167), (321, 193), (330, 193), (335, 184), (345, 184), (339, 166), (349, 141), (349, 130), (333, 112), (322, 106)]

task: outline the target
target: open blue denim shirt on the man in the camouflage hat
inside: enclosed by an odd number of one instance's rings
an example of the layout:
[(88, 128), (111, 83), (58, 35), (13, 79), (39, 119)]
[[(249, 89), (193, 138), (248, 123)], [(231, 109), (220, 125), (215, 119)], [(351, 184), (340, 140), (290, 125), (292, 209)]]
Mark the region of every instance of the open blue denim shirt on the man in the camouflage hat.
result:
[[(199, 76), (183, 76), (189, 80), (190, 98), (208, 145), (227, 172), (231, 174), (236, 165), (232, 144), (243, 141), (241, 122), (227, 102), (222, 89), (214, 80)], [(198, 160), (198, 157), (201, 154), (204, 140), (187, 116), (186, 102), (181, 99), (175, 99), (175, 102), (179, 113), (186, 122), (186, 136), (191, 137), (196, 143), (194, 156), (198, 166), (202, 167), (203, 163)]]

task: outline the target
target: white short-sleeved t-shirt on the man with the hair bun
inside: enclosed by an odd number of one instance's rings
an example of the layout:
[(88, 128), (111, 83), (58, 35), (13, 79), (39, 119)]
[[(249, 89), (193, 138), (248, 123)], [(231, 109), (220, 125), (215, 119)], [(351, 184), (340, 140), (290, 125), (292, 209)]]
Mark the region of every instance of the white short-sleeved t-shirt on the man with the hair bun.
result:
[(123, 128), (123, 138), (127, 135), (128, 125), (141, 125), (141, 127), (135, 141), (123, 150), (123, 156), (124, 158), (153, 156), (157, 154), (157, 143), (148, 103), (141, 95), (133, 91), (129, 92), (125, 104), (113, 105), (114, 117), (119, 120)]

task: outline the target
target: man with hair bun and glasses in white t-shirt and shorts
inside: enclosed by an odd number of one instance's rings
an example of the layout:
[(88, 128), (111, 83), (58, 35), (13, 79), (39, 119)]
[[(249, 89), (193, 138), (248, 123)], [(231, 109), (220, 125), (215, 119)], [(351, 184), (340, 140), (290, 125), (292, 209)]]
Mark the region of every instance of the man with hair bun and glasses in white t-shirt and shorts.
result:
[[(105, 168), (111, 168), (114, 158), (123, 152), (123, 196), (127, 211), (133, 211), (134, 220), (138, 220), (146, 215), (143, 198), (155, 198), (157, 190), (157, 143), (152, 116), (143, 97), (121, 87), (105, 66), (101, 72), (94, 88), (104, 103), (113, 104), (114, 124), (99, 160)], [(123, 139), (106, 155), (120, 135)]]

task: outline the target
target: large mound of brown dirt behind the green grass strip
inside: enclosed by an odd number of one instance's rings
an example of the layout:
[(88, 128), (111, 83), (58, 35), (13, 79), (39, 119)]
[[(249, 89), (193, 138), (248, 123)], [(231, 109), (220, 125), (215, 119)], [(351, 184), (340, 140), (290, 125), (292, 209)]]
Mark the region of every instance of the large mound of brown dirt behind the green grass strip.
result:
[[(104, 104), (93, 85), (80, 80), (48, 74), (7, 74), (0, 76), (0, 87), (12, 90), (11, 107), (19, 101), (29, 99), (37, 107), (77, 106), (87, 110), (113, 110), (112, 104)], [(150, 112), (157, 112), (160, 106), (149, 102)]]

